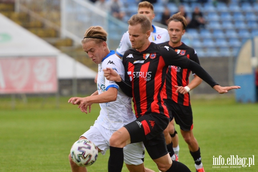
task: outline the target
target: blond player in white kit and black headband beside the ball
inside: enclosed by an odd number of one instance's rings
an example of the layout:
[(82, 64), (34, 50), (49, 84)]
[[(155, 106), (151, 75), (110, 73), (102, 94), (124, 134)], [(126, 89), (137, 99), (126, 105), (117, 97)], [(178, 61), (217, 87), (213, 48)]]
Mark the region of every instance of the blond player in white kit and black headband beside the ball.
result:
[[(136, 119), (132, 111), (132, 98), (126, 96), (114, 81), (105, 78), (103, 69), (110, 67), (124, 78), (122, 60), (115, 55), (115, 51), (108, 49), (107, 32), (100, 26), (91, 26), (84, 34), (83, 50), (91, 60), (98, 64), (97, 91), (87, 97), (72, 97), (69, 103), (79, 105), (82, 112), (91, 111), (92, 103), (99, 103), (100, 114), (90, 129), (80, 136), (80, 139), (91, 140), (98, 148), (98, 152), (105, 154), (110, 147), (111, 135), (124, 125)], [(89, 108), (89, 111), (88, 111)], [(144, 146), (142, 142), (129, 144), (124, 149), (124, 162), (130, 172), (154, 172), (145, 169), (143, 165)], [(85, 167), (77, 166), (69, 155), (72, 172), (87, 172)]]

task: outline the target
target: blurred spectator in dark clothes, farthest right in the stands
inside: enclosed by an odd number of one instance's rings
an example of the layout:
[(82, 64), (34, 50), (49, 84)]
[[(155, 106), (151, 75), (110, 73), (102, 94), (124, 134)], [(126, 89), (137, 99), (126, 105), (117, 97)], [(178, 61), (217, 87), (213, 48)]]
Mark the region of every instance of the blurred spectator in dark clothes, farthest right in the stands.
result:
[(187, 28), (200, 29), (200, 28), (204, 28), (204, 26), (205, 26), (205, 19), (203, 17), (203, 14), (200, 11), (199, 7), (195, 7), (192, 13), (192, 19), (190, 23), (187, 25)]

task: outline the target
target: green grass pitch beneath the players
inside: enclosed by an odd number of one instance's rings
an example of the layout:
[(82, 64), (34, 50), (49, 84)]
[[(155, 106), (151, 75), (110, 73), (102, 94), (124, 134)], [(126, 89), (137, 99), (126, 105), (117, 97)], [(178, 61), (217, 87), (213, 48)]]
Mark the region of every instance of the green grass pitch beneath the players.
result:
[[(19, 98), (12, 105), (11, 98), (0, 98), (0, 171), (1, 172), (70, 172), (68, 154), (72, 144), (94, 123), (99, 105), (90, 114), (81, 113), (76, 105), (67, 103), (68, 97)], [(42, 103), (43, 102), (43, 103)], [(215, 100), (192, 99), (193, 133), (201, 148), (206, 172), (258, 171), (258, 104), (235, 103), (234, 98), (220, 96)], [(58, 107), (57, 107), (58, 106)], [(179, 132), (179, 126), (176, 125)], [(187, 144), (179, 132), (179, 161), (195, 171)], [(254, 165), (241, 168), (222, 168), (213, 165), (213, 156), (230, 155), (254, 157)], [(254, 156), (253, 156), (254, 155)], [(109, 152), (99, 154), (89, 166), (89, 172), (106, 172)], [(146, 153), (144, 164), (158, 171)], [(213, 168), (214, 166), (220, 168)], [(233, 165), (229, 165), (233, 166)], [(123, 167), (123, 171), (128, 171)]]

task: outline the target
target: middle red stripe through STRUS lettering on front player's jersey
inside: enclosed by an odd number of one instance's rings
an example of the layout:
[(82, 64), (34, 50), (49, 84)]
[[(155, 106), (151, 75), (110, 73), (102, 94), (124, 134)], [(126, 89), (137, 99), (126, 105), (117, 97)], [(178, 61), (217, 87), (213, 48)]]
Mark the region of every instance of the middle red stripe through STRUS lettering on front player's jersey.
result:
[[(146, 79), (147, 79), (147, 74), (148, 74), (148, 68), (149, 68), (150, 62), (145, 63), (141, 66), (140, 71), (142, 72), (139, 74), (141, 77), (139, 77), (139, 88), (141, 90), (146, 90)], [(147, 95), (146, 91), (140, 91), (140, 97), (144, 97), (144, 99), (140, 100), (140, 108), (141, 108), (141, 113), (144, 114), (147, 111)]]

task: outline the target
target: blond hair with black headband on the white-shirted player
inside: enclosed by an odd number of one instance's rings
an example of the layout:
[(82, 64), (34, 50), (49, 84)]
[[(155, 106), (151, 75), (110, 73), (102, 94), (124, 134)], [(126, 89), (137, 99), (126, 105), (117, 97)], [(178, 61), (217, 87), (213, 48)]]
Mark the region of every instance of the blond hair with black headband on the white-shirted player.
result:
[(94, 40), (96, 44), (107, 40), (107, 32), (101, 26), (91, 26), (85, 33), (81, 43)]

